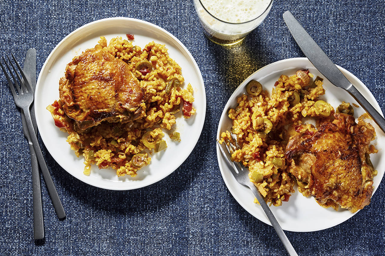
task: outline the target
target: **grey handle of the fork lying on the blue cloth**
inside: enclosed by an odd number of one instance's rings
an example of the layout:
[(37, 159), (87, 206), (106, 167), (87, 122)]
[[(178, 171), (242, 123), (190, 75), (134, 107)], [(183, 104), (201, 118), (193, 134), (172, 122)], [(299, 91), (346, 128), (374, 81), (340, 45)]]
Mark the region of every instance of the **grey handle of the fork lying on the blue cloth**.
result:
[(63, 219), (65, 218), (65, 211), (64, 211), (62, 202), (60, 201), (59, 195), (57, 194), (54, 181), (52, 181), (51, 175), (47, 168), (47, 164), (45, 163), (42, 150), (40, 149), (39, 141), (37, 140), (35, 130), (33, 129), (31, 114), (29, 112), (28, 107), (23, 108), (23, 112), (25, 114), (25, 122), (27, 123), (28, 132), (29, 132), (29, 135), (31, 136), (33, 149), (36, 152), (37, 160), (39, 161), (39, 165), (45, 180), (45, 185), (47, 185), (48, 193), (51, 197), (52, 204), (54, 205), (56, 215), (59, 219)]

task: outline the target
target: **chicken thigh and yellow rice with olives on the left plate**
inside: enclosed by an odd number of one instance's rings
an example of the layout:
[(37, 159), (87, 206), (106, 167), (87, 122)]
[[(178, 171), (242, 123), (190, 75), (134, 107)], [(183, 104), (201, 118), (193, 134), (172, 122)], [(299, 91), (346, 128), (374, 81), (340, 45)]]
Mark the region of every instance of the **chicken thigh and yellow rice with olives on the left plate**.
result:
[[(127, 34), (128, 39), (134, 39)], [(194, 97), (181, 67), (165, 45), (143, 49), (121, 37), (105, 37), (74, 57), (59, 81), (59, 100), (47, 109), (55, 125), (68, 133), (76, 156), (91, 165), (112, 167), (118, 176), (135, 176), (151, 161), (152, 150), (165, 150), (162, 129), (171, 130), (176, 116), (196, 112)], [(170, 138), (180, 140), (177, 131)]]

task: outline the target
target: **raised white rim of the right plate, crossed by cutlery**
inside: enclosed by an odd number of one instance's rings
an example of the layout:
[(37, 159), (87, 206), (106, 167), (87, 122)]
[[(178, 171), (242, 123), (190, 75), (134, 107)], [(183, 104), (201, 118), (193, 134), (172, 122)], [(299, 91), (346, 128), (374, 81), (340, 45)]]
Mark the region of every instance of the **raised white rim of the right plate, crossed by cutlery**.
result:
[[(228, 105), (230, 105), (230, 104), (229, 104), (230, 98), (232, 98), (233, 95), (234, 95), (236, 92), (237, 92), (237, 95), (238, 95), (238, 94), (239, 94), (239, 93), (238, 93), (238, 90), (241, 91), (239, 88), (241, 88), (241, 86), (244, 86), (244, 84), (246, 83), (246, 81), (248, 81), (248, 80), (249, 80), (251, 77), (253, 77), (256, 73), (259, 73), (259, 72), (261, 72), (261, 71), (263, 71), (263, 70), (265, 70), (265, 69), (267, 69), (267, 68), (270, 68), (271, 66), (279, 65), (279, 64), (284, 63), (284, 62), (289, 62), (289, 63), (290, 63), (290, 62), (307, 62), (306, 66), (314, 66), (314, 65), (310, 62), (310, 60), (309, 60), (308, 58), (306, 58), (306, 57), (296, 57), (296, 58), (286, 58), (286, 59), (283, 59), (283, 60), (278, 60), (278, 61), (276, 61), (276, 62), (270, 63), (270, 64), (268, 64), (268, 65), (266, 65), (266, 66), (263, 66), (262, 68), (259, 68), (259, 69), (256, 70), (256, 71), (254, 71), (251, 75), (249, 75), (247, 78), (245, 78), (245, 79), (239, 84), (239, 86), (233, 91), (233, 93), (230, 95), (228, 101), (226, 102), (226, 104), (225, 104), (225, 106), (224, 106), (224, 108), (223, 108), (223, 111), (222, 111), (222, 113), (221, 113), (221, 117), (220, 117), (220, 119), (219, 119), (218, 130), (217, 130), (217, 134), (216, 134), (216, 140), (219, 138), (219, 136), (220, 136), (220, 134), (221, 134), (221, 132), (222, 132), (222, 131), (220, 131), (220, 126), (221, 126), (221, 124), (223, 123), (224, 118), (228, 117), (228, 115), (226, 115), (226, 109), (229, 108)], [(289, 67), (290, 64), (287, 65), (287, 66)], [(295, 65), (294, 65), (294, 66), (295, 66)], [(294, 67), (294, 66), (293, 66), (293, 67)], [(383, 113), (382, 113), (382, 110), (381, 110), (380, 105), (378, 104), (378, 102), (377, 102), (377, 100), (375, 99), (375, 97), (374, 97), (374, 95), (372, 94), (372, 92), (367, 88), (367, 86), (365, 86), (365, 84), (364, 84), (360, 79), (358, 79), (357, 76), (353, 75), (353, 73), (351, 73), (350, 71), (346, 70), (345, 68), (343, 68), (343, 67), (341, 67), (341, 66), (339, 66), (339, 65), (336, 65), (336, 66), (337, 66), (337, 68), (339, 68), (342, 72), (346, 72), (347, 74), (352, 75), (355, 79), (357, 79), (357, 81), (359, 81), (360, 85), (363, 86), (364, 90), (367, 90), (367, 91), (370, 93), (370, 95), (373, 97), (373, 99), (375, 100), (375, 103), (376, 103), (377, 105), (374, 106), (374, 108), (375, 108), (377, 111), (380, 110), (379, 113), (380, 113), (382, 116), (384, 116)], [(266, 76), (268, 76), (268, 75), (266, 75)], [(249, 214), (251, 214), (252, 216), (254, 216), (254, 218), (256, 218), (256, 219), (262, 221), (263, 223), (266, 223), (266, 224), (272, 226), (271, 223), (270, 223), (270, 221), (267, 219), (267, 217), (266, 217), (266, 219), (260, 219), (260, 218), (258, 218), (257, 214), (255, 214), (255, 213), (252, 211), (252, 209), (250, 209), (250, 210), (247, 209), (247, 207), (245, 207), (244, 204), (242, 203), (242, 201), (240, 200), (240, 197), (238, 198), (238, 194), (236, 193), (236, 191), (233, 190), (233, 189), (231, 188), (231, 186), (229, 185), (229, 181), (225, 178), (224, 170), (223, 170), (223, 168), (222, 168), (223, 165), (220, 164), (220, 163), (223, 163), (224, 160), (222, 160), (222, 155), (221, 155), (221, 153), (220, 153), (218, 143), (215, 143), (215, 144), (216, 144), (216, 153), (217, 153), (217, 161), (218, 161), (219, 170), (220, 170), (220, 172), (221, 172), (222, 179), (223, 179), (223, 181), (224, 181), (224, 183), (225, 183), (227, 189), (229, 190), (229, 192), (230, 192), (231, 195), (233, 196), (233, 198), (237, 201), (237, 203), (238, 203), (244, 210), (246, 210)], [(224, 165), (224, 166), (226, 166), (226, 165)], [(226, 168), (228, 168), (228, 167), (226, 166)], [(228, 171), (230, 171), (230, 170), (228, 170)], [(382, 174), (382, 177), (378, 177), (378, 176), (377, 176), (377, 178), (380, 178), (380, 180), (382, 180), (383, 176), (384, 176), (384, 173)], [(235, 180), (235, 178), (234, 178), (234, 180)], [(380, 181), (380, 182), (381, 182), (381, 181)], [(241, 186), (243, 186), (243, 185), (236, 183), (236, 186), (241, 187)], [(373, 197), (374, 193), (377, 191), (377, 188), (378, 188), (378, 186), (374, 188), (373, 193), (372, 193), (372, 197)], [(250, 193), (251, 193), (251, 190), (250, 190)], [(296, 191), (296, 193), (299, 193), (299, 192)], [(251, 202), (251, 203), (253, 203), (253, 202)], [(320, 207), (321, 207), (321, 206), (320, 206)], [(292, 228), (282, 228), (282, 229), (283, 229), (283, 230), (286, 230), (286, 231), (293, 231), (293, 232), (313, 232), (313, 231), (320, 231), (320, 230), (324, 230), (324, 229), (331, 228), (331, 227), (333, 227), (333, 226), (337, 226), (337, 225), (339, 225), (339, 224), (341, 224), (341, 223), (347, 221), (348, 219), (352, 218), (355, 214), (357, 214), (359, 211), (360, 211), (360, 210), (356, 211), (355, 213), (352, 213), (352, 215), (351, 215), (350, 217), (348, 217), (347, 219), (345, 219), (345, 220), (343, 220), (343, 221), (340, 221), (340, 222), (338, 222), (338, 223), (336, 223), (336, 224), (330, 224), (330, 225), (327, 225), (327, 226), (325, 226), (325, 227), (323, 227), (323, 228), (320, 228), (320, 229), (306, 229), (306, 230), (299, 230), (299, 229), (292, 229)], [(264, 214), (264, 213), (263, 213), (263, 214)]]

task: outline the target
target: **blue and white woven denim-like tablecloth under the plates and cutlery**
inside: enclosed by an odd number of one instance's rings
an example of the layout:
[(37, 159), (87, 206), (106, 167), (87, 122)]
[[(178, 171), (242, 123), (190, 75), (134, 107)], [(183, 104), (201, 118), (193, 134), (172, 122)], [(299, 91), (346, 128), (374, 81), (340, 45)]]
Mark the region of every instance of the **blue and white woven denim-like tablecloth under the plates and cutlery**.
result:
[[(55, 45), (76, 28), (124, 16), (152, 22), (181, 40), (198, 63), (207, 94), (206, 122), (195, 149), (174, 173), (145, 188), (109, 191), (86, 185), (42, 147), (67, 218), (56, 218), (43, 183), (46, 239), (35, 243), (28, 145), (1, 73), (0, 255), (286, 255), (273, 228), (229, 193), (214, 145), (219, 116), (239, 83), (264, 65), (304, 56), (283, 22), (286, 10), (333, 62), (368, 86), (385, 110), (382, 0), (277, 0), (266, 20), (235, 47), (203, 36), (192, 0), (2, 0), (0, 8), (1, 55), (12, 52), (23, 62), (27, 49), (35, 47), (38, 73)], [(370, 205), (344, 223), (286, 234), (300, 256), (385, 255), (384, 197), (382, 183)]]

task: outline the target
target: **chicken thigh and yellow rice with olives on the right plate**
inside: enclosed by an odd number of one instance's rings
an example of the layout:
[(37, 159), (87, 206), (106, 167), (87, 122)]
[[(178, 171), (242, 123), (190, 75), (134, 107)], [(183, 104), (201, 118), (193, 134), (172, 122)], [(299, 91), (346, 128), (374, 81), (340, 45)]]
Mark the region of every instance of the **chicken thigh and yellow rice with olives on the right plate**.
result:
[[(250, 81), (247, 94), (228, 112), (240, 146), (231, 158), (249, 168), (250, 180), (274, 206), (288, 201), (297, 184), (300, 193), (325, 208), (355, 212), (369, 204), (373, 191), (377, 171), (369, 154), (377, 153), (370, 145), (375, 131), (363, 117), (355, 123), (349, 103), (335, 110), (320, 100), (322, 79), (312, 80), (308, 70), (281, 75), (270, 97), (261, 83)], [(226, 131), (219, 142), (234, 137)]]

